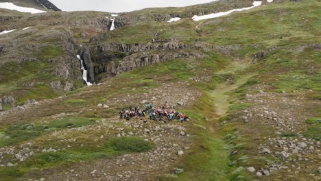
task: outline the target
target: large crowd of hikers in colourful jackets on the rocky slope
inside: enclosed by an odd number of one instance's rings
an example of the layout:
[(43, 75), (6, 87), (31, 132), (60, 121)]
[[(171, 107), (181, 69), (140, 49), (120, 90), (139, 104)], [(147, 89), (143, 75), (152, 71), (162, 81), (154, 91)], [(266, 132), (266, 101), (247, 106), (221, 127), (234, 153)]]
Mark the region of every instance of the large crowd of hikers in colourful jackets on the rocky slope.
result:
[(122, 108), (119, 111), (119, 119), (141, 119), (144, 123), (147, 122), (145, 117), (149, 117), (150, 120), (154, 121), (163, 121), (167, 123), (168, 121), (174, 121), (175, 119), (182, 122), (187, 121), (189, 117), (187, 114), (182, 112), (176, 112), (175, 106), (168, 107), (167, 102), (160, 105), (159, 108), (154, 108), (152, 104), (145, 104), (143, 108), (138, 106), (130, 107), (129, 109)]

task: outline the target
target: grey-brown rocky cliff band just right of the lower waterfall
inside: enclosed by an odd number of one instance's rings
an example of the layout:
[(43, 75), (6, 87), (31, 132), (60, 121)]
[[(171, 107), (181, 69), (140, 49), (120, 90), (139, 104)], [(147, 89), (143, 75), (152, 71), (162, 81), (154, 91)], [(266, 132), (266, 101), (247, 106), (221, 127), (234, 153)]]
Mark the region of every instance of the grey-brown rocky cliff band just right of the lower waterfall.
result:
[(108, 77), (119, 75), (136, 67), (174, 60), (176, 58), (201, 57), (200, 49), (206, 45), (169, 42), (147, 44), (103, 44), (91, 47), (95, 75)]

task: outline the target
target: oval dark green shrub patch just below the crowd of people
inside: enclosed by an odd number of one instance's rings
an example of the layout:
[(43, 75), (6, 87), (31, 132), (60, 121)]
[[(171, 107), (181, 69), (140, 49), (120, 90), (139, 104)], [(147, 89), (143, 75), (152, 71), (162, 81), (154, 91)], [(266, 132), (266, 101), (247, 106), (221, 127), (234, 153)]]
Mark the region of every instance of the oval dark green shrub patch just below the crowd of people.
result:
[(148, 152), (154, 147), (139, 137), (113, 138), (110, 145), (120, 152)]

